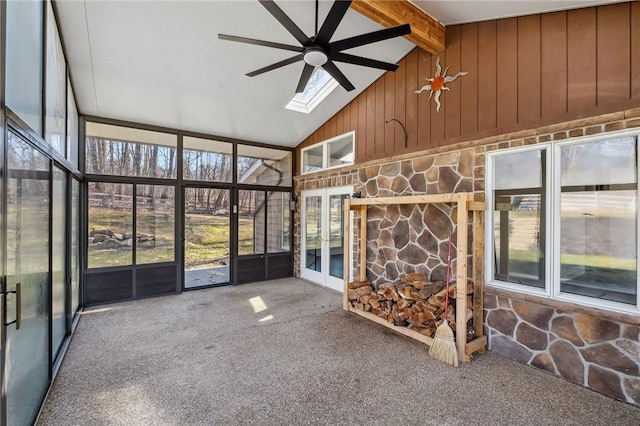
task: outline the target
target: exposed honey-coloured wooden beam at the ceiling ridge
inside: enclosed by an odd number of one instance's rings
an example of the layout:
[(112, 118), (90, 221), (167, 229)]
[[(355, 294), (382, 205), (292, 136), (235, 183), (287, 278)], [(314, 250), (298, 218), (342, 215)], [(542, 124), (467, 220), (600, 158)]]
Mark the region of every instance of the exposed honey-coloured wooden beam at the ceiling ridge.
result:
[(408, 0), (353, 0), (351, 8), (386, 28), (411, 24), (407, 40), (434, 55), (444, 51), (444, 25)]

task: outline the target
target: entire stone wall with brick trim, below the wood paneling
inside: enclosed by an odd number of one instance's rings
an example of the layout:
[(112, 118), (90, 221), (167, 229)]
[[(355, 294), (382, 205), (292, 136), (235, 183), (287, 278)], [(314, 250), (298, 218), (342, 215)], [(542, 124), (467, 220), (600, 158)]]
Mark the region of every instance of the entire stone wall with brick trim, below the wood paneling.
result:
[[(462, 191), (484, 194), (489, 151), (637, 127), (640, 108), (375, 160), (340, 172), (297, 176), (296, 193), (353, 185), (363, 197)], [(368, 214), (367, 274), (374, 283), (410, 272), (442, 279), (446, 239), (455, 225), (451, 207), (370, 207)], [(299, 274), (298, 212), (295, 220), (295, 273)], [(358, 249), (355, 242), (354, 249)], [(498, 297), (490, 287), (486, 293), (489, 350), (640, 405), (640, 318), (593, 314), (557, 300), (552, 302), (558, 306), (550, 306), (548, 299), (525, 302), (517, 297)]]

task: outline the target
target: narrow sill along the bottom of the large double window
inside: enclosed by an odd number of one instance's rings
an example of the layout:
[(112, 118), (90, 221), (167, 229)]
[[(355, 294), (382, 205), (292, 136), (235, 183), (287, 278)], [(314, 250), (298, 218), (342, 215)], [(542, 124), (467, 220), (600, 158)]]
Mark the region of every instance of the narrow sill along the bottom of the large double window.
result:
[(507, 297), (509, 299), (535, 303), (538, 305), (548, 306), (557, 311), (575, 312), (585, 315), (591, 315), (598, 318), (607, 319), (610, 321), (622, 322), (625, 324), (640, 325), (640, 313), (630, 314), (621, 312), (612, 312), (606, 309), (592, 308), (589, 306), (583, 306), (576, 303), (568, 302), (565, 300), (550, 299), (547, 297), (534, 296), (531, 294), (524, 294), (513, 290), (506, 290), (503, 288), (497, 288), (492, 286), (485, 286), (485, 293), (492, 294), (494, 296)]

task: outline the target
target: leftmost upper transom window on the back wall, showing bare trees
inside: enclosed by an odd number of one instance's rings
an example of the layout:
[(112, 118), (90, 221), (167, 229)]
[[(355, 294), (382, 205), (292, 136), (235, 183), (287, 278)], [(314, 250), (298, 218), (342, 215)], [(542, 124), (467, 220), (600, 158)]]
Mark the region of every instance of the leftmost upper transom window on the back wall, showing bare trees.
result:
[(86, 133), (87, 173), (176, 178), (176, 135), (92, 122)]

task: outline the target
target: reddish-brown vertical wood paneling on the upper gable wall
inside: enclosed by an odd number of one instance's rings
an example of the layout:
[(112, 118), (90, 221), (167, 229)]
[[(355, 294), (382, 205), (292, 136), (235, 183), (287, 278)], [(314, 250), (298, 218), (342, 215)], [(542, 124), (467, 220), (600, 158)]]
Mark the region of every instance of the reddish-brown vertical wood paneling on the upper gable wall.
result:
[[(640, 2), (447, 27), (442, 107), (414, 93), (436, 57), (414, 49), (298, 146), (356, 131), (356, 162), (640, 106)], [(341, 90), (338, 88), (336, 90)], [(385, 123), (396, 118), (401, 127)], [(300, 163), (298, 163), (300, 164)]]

